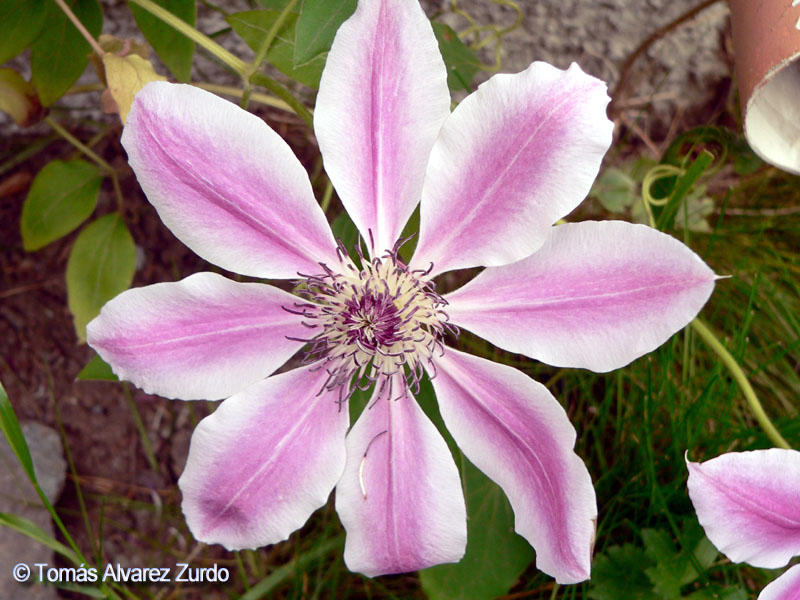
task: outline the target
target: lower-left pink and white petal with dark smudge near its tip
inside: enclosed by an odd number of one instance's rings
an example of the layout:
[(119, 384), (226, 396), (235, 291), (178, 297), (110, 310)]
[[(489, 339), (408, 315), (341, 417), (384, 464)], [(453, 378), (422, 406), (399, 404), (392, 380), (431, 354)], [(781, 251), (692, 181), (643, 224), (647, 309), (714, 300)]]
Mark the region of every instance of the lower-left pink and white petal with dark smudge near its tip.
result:
[(178, 480), (192, 534), (228, 550), (285, 540), (324, 505), (345, 464), (347, 404), (312, 365), (231, 396), (192, 435)]

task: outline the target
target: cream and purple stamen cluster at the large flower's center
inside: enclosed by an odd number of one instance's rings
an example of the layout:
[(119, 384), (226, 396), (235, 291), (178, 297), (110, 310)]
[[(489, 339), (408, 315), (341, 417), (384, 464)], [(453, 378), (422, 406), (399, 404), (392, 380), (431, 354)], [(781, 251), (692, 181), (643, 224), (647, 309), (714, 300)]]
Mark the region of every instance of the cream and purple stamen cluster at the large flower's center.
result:
[(305, 361), (323, 361), (330, 375), (325, 388), (339, 387), (342, 400), (397, 372), (417, 389), (424, 363), (437, 347), (444, 349), (445, 329), (456, 331), (442, 310), (447, 302), (426, 273), (409, 270), (396, 251), (371, 261), (362, 257), (360, 270), (343, 250), (339, 256), (339, 272), (322, 265), (325, 274), (301, 280), (297, 292), (308, 302), (284, 307), (317, 330), (302, 340), (311, 344)]

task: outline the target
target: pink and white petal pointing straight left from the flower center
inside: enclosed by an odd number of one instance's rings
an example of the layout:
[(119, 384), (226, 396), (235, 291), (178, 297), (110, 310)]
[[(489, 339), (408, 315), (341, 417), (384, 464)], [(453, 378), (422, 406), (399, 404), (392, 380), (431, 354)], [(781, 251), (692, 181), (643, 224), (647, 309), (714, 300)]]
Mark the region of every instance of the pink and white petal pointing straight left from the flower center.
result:
[(264, 379), (309, 337), (285, 311), (295, 296), (262, 283), (197, 273), (127, 290), (86, 328), (89, 345), (120, 379), (145, 392), (219, 400)]

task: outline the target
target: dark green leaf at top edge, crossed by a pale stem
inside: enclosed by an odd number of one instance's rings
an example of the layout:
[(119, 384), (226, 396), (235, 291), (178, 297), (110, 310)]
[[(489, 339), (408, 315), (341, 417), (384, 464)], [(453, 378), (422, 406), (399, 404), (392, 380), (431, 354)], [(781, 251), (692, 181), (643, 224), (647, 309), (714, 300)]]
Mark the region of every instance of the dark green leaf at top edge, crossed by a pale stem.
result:
[[(153, 0), (162, 8), (194, 27), (197, 19), (195, 0)], [(129, 5), (136, 24), (150, 45), (178, 81), (189, 81), (192, 73), (194, 42), (158, 17), (134, 4)]]

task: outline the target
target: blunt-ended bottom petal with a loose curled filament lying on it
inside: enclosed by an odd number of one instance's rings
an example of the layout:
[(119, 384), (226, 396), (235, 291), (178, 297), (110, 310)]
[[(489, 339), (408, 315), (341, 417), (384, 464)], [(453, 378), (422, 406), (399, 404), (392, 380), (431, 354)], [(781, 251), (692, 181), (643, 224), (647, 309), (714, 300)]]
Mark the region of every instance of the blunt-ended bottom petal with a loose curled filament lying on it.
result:
[(336, 511), (344, 560), (369, 577), (457, 562), (467, 544), (461, 480), (442, 436), (402, 377), (376, 389), (347, 436)]

